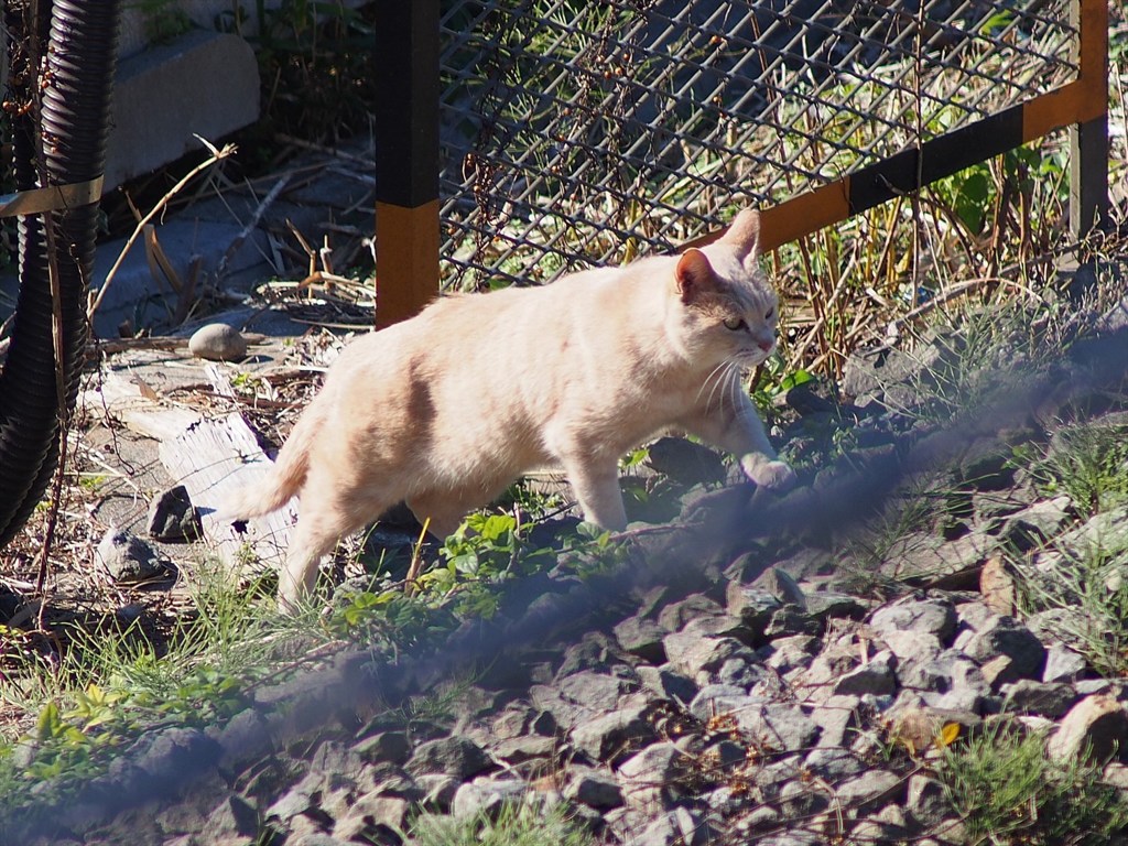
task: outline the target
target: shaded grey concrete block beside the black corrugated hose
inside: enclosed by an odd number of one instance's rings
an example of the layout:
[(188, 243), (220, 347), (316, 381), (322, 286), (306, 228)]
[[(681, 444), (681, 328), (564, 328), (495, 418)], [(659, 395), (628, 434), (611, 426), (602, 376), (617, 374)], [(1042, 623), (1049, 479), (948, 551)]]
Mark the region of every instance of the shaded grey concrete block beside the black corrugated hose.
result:
[(258, 120), (258, 64), (236, 35), (192, 30), (118, 65), (105, 190)]

